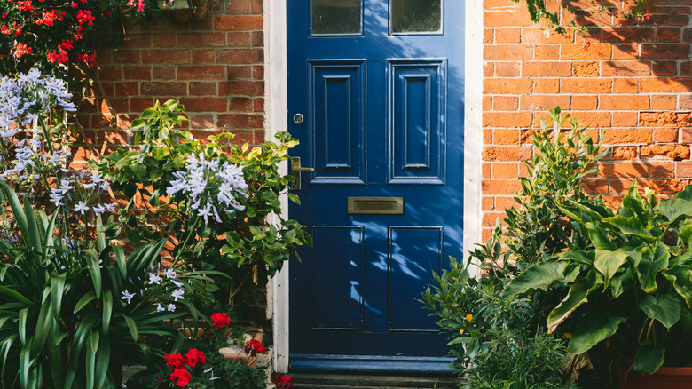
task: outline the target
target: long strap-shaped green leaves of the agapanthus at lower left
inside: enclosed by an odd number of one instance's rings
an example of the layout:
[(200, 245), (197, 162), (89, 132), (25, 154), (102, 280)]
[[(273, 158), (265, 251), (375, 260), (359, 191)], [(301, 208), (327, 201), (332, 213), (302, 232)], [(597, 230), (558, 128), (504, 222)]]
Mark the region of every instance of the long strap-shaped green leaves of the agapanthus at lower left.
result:
[[(106, 244), (114, 229), (99, 226), (98, 247), (75, 250), (55, 236), (59, 212), (49, 218), (0, 182), (20, 229), (18, 241), (0, 241), (0, 385), (3, 387), (117, 387), (118, 360), (153, 363), (161, 350), (140, 341), (168, 340), (177, 330), (163, 320), (193, 314), (192, 306), (159, 313), (146, 301), (127, 303), (122, 292), (159, 259), (165, 241), (125, 258)], [(99, 265), (100, 264), (100, 265)], [(144, 287), (144, 284), (141, 284)]]

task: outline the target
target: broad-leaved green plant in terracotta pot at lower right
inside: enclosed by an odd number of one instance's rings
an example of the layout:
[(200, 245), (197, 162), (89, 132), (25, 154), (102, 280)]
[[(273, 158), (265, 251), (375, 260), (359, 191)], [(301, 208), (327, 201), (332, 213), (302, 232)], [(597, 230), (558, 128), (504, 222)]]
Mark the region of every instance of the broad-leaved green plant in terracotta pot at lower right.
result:
[[(569, 223), (588, 234), (554, 257), (531, 266), (508, 283), (503, 296), (525, 296), (551, 285), (569, 288), (547, 316), (547, 328), (571, 330), (567, 351), (587, 353), (595, 345), (615, 347), (632, 361), (622, 387), (662, 366), (692, 362), (692, 186), (659, 202), (636, 181), (613, 212), (602, 202), (560, 199)], [(667, 370), (666, 370), (667, 371)], [(651, 379), (649, 377), (649, 379)], [(692, 377), (672, 386), (653, 378), (647, 387), (692, 387)]]

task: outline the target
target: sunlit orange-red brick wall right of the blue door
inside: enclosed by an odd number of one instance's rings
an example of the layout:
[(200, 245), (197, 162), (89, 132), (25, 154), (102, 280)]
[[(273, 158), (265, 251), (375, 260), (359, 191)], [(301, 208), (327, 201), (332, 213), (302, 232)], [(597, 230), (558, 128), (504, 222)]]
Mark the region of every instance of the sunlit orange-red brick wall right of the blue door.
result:
[(608, 27), (617, 21), (596, 16), (605, 27), (546, 38), (523, 2), (484, 0), (484, 240), (519, 189), (531, 129), (556, 105), (613, 147), (587, 183), (613, 206), (634, 178), (658, 194), (689, 183), (692, 2), (656, 4), (642, 25)]

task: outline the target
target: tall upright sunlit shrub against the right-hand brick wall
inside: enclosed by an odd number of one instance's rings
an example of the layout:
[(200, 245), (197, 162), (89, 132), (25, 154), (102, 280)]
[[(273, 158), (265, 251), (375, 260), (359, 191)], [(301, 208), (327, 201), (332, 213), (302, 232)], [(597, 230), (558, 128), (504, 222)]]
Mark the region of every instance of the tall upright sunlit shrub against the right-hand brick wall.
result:
[[(600, 141), (594, 144), (570, 114), (562, 117), (560, 107), (548, 112), (553, 131), (550, 123), (541, 120), (541, 131), (531, 134), (536, 153), (525, 161), (528, 177), (520, 178), (522, 190), (514, 197), (518, 207), (507, 209), (507, 228), (501, 231), (507, 253), (515, 258), (520, 271), (583, 244), (584, 231), (563, 222), (565, 214), (556, 199), (570, 196), (577, 202), (589, 201), (583, 180), (597, 171), (595, 162), (609, 153), (609, 149), (601, 149)], [(565, 125), (570, 131), (561, 130)]]

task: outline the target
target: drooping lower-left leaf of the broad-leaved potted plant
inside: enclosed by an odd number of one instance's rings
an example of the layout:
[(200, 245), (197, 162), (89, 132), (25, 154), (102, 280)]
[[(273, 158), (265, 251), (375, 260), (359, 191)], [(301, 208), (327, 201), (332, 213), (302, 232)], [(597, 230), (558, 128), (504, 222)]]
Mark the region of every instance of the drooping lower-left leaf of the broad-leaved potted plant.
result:
[(572, 333), (567, 352), (586, 353), (594, 345), (598, 345), (603, 340), (613, 336), (620, 323), (625, 322), (627, 318), (619, 315), (611, 316), (611, 313), (612, 311), (608, 309), (589, 311)]

